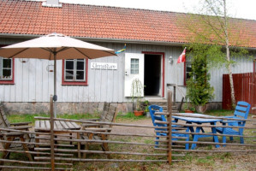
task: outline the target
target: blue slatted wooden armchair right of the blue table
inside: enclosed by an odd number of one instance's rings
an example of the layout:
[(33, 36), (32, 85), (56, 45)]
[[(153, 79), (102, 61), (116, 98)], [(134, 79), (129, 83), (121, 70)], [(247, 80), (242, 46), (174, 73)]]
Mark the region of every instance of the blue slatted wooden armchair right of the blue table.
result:
[[(251, 105), (247, 102), (239, 101), (235, 107), (234, 116), (226, 116), (227, 121), (221, 121), (223, 123), (223, 126), (235, 126), (235, 127), (241, 127), (241, 128), (232, 128), (232, 127), (216, 127), (217, 133), (223, 133), (228, 134), (229, 139), (232, 141), (233, 136), (232, 135), (243, 135), (243, 129), (242, 127), (245, 127), (246, 121), (234, 121), (229, 120), (230, 119), (247, 119), (247, 116), (249, 114)], [(226, 143), (226, 136), (223, 136), (223, 143)], [(240, 137), (240, 143), (244, 144), (243, 137)]]

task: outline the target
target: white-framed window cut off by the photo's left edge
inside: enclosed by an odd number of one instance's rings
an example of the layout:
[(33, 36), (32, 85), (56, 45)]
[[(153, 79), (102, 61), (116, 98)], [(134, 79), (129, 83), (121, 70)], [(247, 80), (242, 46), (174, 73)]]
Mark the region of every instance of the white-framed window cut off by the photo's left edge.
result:
[(0, 57), (0, 80), (13, 80), (13, 60)]

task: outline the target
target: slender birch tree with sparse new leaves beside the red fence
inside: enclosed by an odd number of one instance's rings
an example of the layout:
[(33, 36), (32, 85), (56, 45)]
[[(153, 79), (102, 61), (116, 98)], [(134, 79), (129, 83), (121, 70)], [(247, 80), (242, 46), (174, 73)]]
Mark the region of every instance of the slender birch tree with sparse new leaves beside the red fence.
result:
[[(244, 30), (241, 20), (230, 18), (226, 0), (201, 0), (202, 9), (199, 10), (199, 15), (189, 15), (182, 23), (183, 27), (189, 33), (188, 42), (195, 44), (211, 44), (219, 46), (219, 53), (212, 54), (211, 62), (224, 64), (229, 72), (229, 83), (231, 90), (232, 106), (235, 106), (235, 91), (232, 76), (231, 65), (234, 63), (230, 59), (230, 54), (233, 56), (239, 54), (244, 56), (247, 50), (241, 48), (247, 45), (247, 38), (241, 38), (241, 30)], [(223, 53), (223, 50), (225, 51)]]

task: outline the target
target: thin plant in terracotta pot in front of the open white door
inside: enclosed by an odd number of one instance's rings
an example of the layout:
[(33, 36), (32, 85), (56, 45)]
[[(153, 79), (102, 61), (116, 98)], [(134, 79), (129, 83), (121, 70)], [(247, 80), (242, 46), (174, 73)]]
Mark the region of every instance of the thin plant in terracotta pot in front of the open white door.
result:
[(143, 115), (144, 111), (141, 108), (141, 101), (144, 95), (144, 85), (142, 85), (140, 79), (134, 79), (132, 82), (131, 97), (132, 102), (135, 102), (134, 115)]

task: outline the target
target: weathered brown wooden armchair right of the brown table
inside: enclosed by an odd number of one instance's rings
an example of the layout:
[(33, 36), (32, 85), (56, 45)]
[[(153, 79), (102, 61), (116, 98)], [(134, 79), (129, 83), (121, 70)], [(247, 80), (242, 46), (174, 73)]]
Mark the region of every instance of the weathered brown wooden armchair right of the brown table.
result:
[[(110, 105), (110, 103), (104, 103), (104, 111), (102, 115), (100, 116), (100, 119), (98, 121), (100, 122), (114, 122), (116, 119), (116, 107), (113, 105)], [(92, 121), (92, 120), (90, 120)], [(108, 140), (109, 135), (104, 133), (110, 133), (112, 125), (108, 124), (81, 124), (82, 130), (94, 132), (94, 133), (81, 133), (80, 138), (81, 139), (89, 139), (89, 140)], [(95, 133), (97, 132), (97, 133)], [(82, 143), (83, 144), (83, 143)], [(100, 144), (102, 150), (108, 151), (108, 143), (102, 143), (102, 142), (85, 142), (85, 150), (89, 150), (89, 144)], [(83, 153), (83, 157), (86, 157), (86, 153)], [(108, 157), (110, 157), (108, 155)]]

